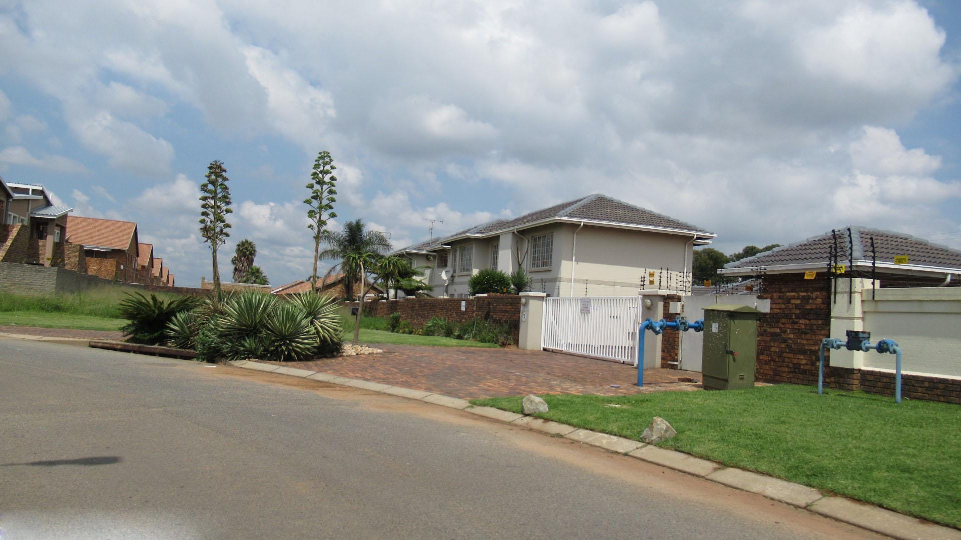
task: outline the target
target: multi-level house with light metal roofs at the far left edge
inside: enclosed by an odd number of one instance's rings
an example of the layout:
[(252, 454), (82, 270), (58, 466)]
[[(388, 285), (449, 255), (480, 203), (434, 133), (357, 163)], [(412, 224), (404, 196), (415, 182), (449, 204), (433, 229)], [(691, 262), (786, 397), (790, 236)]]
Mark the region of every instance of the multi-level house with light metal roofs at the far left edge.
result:
[(55, 205), (42, 185), (0, 179), (0, 261), (65, 267), (72, 262), (76, 269), (77, 250), (65, 245), (71, 211)]

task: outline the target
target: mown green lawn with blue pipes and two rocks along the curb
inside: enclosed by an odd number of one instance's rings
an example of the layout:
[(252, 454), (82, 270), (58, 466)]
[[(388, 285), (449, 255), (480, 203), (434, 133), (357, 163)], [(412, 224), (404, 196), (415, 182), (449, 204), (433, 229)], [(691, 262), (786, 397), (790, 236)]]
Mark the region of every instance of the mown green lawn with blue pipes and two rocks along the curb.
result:
[[(653, 416), (678, 436), (659, 446), (961, 527), (961, 405), (779, 384), (635, 396), (542, 396), (542, 416), (639, 439)], [(474, 400), (521, 412), (521, 398)], [(621, 406), (607, 406), (621, 405)]]

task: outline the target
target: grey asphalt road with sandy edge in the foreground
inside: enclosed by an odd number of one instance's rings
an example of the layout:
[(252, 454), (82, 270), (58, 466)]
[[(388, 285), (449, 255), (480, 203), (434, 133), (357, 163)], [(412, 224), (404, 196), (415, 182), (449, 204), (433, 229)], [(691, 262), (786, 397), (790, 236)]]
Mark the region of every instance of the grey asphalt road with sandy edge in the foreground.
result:
[(445, 407), (0, 338), (3, 540), (871, 536)]

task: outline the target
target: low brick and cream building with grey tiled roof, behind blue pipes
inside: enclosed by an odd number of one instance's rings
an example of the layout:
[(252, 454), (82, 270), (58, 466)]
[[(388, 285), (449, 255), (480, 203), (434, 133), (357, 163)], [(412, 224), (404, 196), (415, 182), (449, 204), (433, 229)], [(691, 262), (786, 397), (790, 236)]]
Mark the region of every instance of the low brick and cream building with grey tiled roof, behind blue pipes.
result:
[[(903, 350), (905, 397), (961, 403), (961, 251), (852, 226), (718, 272), (758, 281), (754, 292), (771, 303), (758, 326), (757, 380), (814, 384), (822, 339), (870, 331), (872, 343), (890, 338)], [(893, 391), (894, 355), (827, 356), (829, 386)]]

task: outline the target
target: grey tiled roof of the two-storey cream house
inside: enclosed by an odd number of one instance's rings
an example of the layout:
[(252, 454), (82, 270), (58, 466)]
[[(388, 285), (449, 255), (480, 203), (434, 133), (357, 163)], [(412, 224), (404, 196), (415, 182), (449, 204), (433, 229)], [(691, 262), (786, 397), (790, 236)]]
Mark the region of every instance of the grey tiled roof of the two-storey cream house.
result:
[(559, 203), (546, 209), (534, 210), (513, 219), (495, 219), (486, 223), (481, 223), (470, 229), (464, 229), (453, 234), (448, 234), (443, 238), (436, 238), (415, 244), (399, 250), (404, 251), (426, 251), (436, 247), (449, 238), (456, 238), (465, 234), (484, 235), (496, 233), (498, 231), (508, 231), (515, 228), (523, 228), (530, 224), (544, 221), (551, 218), (569, 218), (572, 220), (584, 221), (603, 221), (605, 223), (633, 225), (637, 227), (654, 227), (658, 229), (670, 229), (685, 233), (713, 234), (695, 227), (689, 223), (668, 217), (649, 209), (635, 207), (624, 201), (619, 201), (613, 197), (594, 193), (586, 197), (580, 197), (573, 201)]

